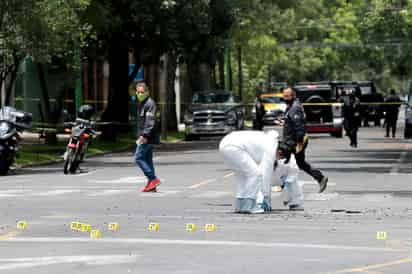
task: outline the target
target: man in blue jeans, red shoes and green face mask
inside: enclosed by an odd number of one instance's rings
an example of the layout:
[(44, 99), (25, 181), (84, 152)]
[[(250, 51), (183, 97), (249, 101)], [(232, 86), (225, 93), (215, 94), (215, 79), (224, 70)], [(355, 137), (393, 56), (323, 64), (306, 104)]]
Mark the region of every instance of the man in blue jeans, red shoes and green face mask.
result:
[(135, 154), (136, 164), (142, 169), (148, 181), (142, 192), (156, 192), (160, 180), (156, 177), (153, 165), (153, 145), (158, 144), (159, 134), (157, 131), (157, 107), (150, 98), (149, 88), (145, 83), (136, 85), (138, 105), (137, 121), (137, 148)]

